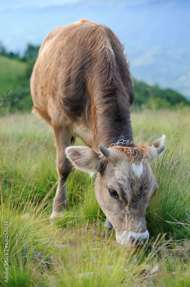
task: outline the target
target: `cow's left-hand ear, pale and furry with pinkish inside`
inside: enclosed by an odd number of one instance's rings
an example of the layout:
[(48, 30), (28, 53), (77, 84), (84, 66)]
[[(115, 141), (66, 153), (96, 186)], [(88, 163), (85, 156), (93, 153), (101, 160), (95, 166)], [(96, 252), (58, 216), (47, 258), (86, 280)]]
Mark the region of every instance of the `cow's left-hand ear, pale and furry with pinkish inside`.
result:
[(86, 146), (69, 146), (65, 149), (67, 158), (83, 171), (94, 174), (100, 170), (99, 154)]

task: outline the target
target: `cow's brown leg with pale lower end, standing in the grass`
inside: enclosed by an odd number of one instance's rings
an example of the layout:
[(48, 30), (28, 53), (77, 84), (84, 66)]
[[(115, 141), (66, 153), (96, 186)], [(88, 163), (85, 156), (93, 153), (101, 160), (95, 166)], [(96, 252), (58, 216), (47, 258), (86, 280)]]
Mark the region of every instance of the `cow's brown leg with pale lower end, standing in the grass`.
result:
[(65, 156), (65, 148), (74, 141), (72, 129), (68, 125), (53, 125), (56, 144), (56, 163), (59, 175), (58, 188), (53, 200), (51, 219), (63, 214), (63, 208), (68, 207), (67, 179), (72, 171), (72, 164)]

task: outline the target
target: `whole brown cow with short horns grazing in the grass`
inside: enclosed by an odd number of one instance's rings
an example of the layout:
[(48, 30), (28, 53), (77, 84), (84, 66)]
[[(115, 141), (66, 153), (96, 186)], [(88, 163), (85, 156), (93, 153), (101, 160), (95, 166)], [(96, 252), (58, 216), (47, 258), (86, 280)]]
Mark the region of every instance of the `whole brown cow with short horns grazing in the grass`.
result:
[[(133, 141), (134, 90), (117, 36), (106, 26), (80, 20), (51, 31), (31, 75), (33, 110), (52, 127), (59, 184), (51, 220), (68, 208), (73, 166), (95, 174), (95, 195), (119, 244), (149, 239), (145, 211), (158, 189), (151, 162), (165, 135), (152, 144)], [(72, 146), (76, 136), (86, 146)]]

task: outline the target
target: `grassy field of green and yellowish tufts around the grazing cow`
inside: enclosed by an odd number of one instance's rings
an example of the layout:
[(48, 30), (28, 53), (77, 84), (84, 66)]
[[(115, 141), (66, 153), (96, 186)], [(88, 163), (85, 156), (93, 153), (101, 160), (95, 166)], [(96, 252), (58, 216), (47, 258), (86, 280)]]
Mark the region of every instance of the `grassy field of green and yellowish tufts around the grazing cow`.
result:
[[(104, 227), (93, 178), (83, 172), (70, 175), (69, 209), (51, 226), (58, 179), (51, 127), (33, 114), (0, 117), (0, 286), (190, 286), (189, 114), (185, 107), (131, 115), (137, 143), (166, 135), (165, 152), (152, 164), (159, 190), (146, 212), (149, 243), (135, 251)], [(153, 266), (159, 272), (151, 274)]]

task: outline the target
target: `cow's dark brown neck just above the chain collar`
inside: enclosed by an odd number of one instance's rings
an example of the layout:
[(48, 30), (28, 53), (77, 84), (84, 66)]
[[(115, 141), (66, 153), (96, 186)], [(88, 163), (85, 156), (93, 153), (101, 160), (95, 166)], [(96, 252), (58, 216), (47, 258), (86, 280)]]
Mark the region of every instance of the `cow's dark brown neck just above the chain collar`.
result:
[(102, 98), (96, 111), (98, 144), (107, 147), (119, 139), (133, 141), (129, 104), (124, 93)]

